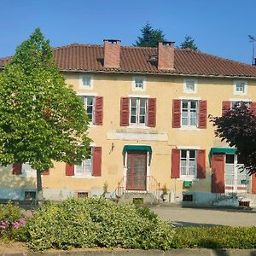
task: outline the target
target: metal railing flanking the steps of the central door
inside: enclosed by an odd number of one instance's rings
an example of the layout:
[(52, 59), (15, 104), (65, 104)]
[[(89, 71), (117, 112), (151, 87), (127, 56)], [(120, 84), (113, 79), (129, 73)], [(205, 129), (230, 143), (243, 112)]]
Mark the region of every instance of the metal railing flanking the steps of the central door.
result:
[[(142, 177), (140, 177), (142, 178)], [(153, 176), (143, 177), (144, 184), (131, 186), (127, 184), (127, 177), (124, 176), (118, 183), (118, 187), (113, 191), (112, 198), (116, 198), (118, 201), (122, 195), (128, 193), (146, 194), (150, 193), (154, 196), (154, 199), (160, 201), (160, 195), (162, 189), (160, 189), (160, 183)]]

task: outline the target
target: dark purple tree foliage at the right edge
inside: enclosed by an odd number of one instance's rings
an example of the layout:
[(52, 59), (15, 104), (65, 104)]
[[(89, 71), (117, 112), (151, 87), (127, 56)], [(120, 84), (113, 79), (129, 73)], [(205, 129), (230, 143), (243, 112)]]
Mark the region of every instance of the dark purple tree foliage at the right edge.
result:
[(237, 148), (244, 168), (256, 173), (256, 116), (244, 102), (221, 117), (211, 117), (217, 127), (215, 136)]

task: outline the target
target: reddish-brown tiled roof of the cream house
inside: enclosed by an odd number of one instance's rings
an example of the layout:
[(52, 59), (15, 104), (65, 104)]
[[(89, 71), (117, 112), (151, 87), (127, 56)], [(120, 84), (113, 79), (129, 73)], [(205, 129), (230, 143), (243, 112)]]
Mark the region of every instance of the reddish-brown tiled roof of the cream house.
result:
[[(149, 55), (157, 55), (156, 48), (121, 47), (120, 67), (103, 67), (103, 46), (70, 44), (53, 49), (57, 67), (62, 71), (121, 72), (121, 73), (169, 73), (199, 76), (254, 77), (256, 67), (230, 61), (192, 49), (175, 49), (174, 70), (158, 70), (149, 61)], [(0, 67), (11, 57), (0, 59)]]

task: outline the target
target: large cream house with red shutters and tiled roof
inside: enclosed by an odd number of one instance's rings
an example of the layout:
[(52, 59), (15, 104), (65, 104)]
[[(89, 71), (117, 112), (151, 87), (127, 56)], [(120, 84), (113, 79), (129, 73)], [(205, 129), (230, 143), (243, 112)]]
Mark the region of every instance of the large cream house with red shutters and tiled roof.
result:
[[(256, 67), (174, 49), (71, 44), (54, 49), (55, 62), (84, 102), (90, 118), (91, 157), (81, 166), (57, 162), (42, 175), (44, 197), (111, 195), (132, 199), (256, 204), (255, 177), (239, 172), (236, 148), (214, 137), (208, 114), (236, 102), (256, 110)], [(9, 61), (0, 59), (0, 67)], [(24, 200), (36, 191), (26, 164), (1, 167), (0, 198)], [(221, 202), (222, 201), (222, 202)]]

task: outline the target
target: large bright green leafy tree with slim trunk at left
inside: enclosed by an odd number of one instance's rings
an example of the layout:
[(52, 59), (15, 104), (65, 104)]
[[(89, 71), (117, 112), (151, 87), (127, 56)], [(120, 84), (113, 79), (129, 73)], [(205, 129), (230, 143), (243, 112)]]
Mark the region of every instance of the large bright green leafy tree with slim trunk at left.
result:
[(49, 41), (37, 28), (0, 73), (0, 163), (28, 163), (41, 172), (53, 161), (79, 164), (89, 153), (88, 117), (55, 67)]

